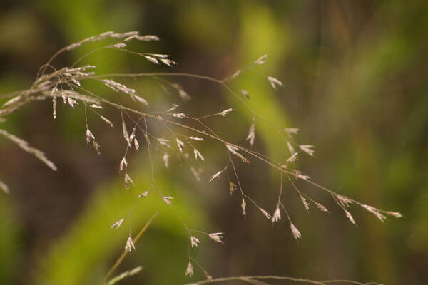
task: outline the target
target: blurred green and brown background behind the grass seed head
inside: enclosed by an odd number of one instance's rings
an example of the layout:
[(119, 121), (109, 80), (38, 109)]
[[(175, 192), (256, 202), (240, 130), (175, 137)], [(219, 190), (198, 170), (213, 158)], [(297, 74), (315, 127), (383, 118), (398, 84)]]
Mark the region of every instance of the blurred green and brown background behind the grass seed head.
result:
[[(218, 144), (200, 144), (207, 162), (198, 182), (187, 162), (171, 155), (163, 167), (156, 153), (156, 180), (189, 227), (225, 232), (225, 244), (200, 237), (192, 254), (213, 276), (276, 274), (308, 279), (354, 279), (382, 284), (428, 284), (428, 20), (427, 1), (1, 1), (0, 92), (28, 88), (36, 72), (59, 48), (104, 31), (140, 31), (162, 41), (135, 43), (135, 51), (168, 53), (172, 70), (141, 58), (105, 51), (86, 58), (97, 73), (183, 71), (215, 78), (230, 75), (267, 53), (264, 66), (243, 73), (234, 90), (248, 90), (248, 105), (277, 125), (300, 128), (297, 140), (317, 147), (299, 168), (320, 184), (404, 219), (379, 222), (352, 208), (352, 226), (330, 197), (299, 183), (331, 214), (305, 211), (286, 184), (285, 204), (302, 239), (282, 221), (272, 227), (240, 197), (228, 193), (225, 177), (206, 182), (225, 165)], [(101, 43), (82, 46), (54, 63), (65, 66)], [(275, 91), (263, 76), (284, 86)], [(207, 123), (228, 141), (246, 145), (252, 116), (218, 85), (172, 78), (193, 96), (180, 109), (189, 115), (235, 108)], [(153, 110), (179, 103), (151, 78), (128, 81)], [(101, 86), (91, 90), (117, 100)], [(46, 152), (52, 172), (6, 140), (0, 140), (0, 284), (99, 284), (123, 250), (129, 225), (110, 225), (132, 208), (131, 232), (159, 212), (117, 273), (143, 266), (123, 284), (183, 284), (187, 236), (170, 207), (156, 197), (134, 205), (150, 185), (147, 153), (133, 153), (124, 190), (117, 167), (125, 151), (120, 128), (92, 116), (91, 130), (103, 147), (98, 157), (85, 142), (83, 108), (34, 103), (10, 115), (0, 128)], [(115, 125), (120, 114), (104, 110)], [(154, 127), (153, 127), (154, 128)], [(161, 133), (161, 130), (158, 130)], [(142, 141), (142, 139), (141, 139)], [(269, 125), (256, 120), (255, 150), (287, 157)], [(192, 162), (193, 163), (193, 162)], [(275, 209), (279, 187), (274, 171), (259, 162), (238, 163), (245, 191), (261, 207)], [(232, 283), (231, 283), (232, 284)]]

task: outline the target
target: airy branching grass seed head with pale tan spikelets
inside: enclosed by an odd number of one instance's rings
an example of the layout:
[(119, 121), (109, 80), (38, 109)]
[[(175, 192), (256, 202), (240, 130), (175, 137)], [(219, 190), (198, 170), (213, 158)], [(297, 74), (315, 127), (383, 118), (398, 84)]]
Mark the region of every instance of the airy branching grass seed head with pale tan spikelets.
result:
[[(225, 162), (225, 166), (213, 173), (210, 176), (209, 181), (214, 183), (214, 180), (220, 179), (224, 174), (227, 175), (229, 180), (229, 191), (232, 194), (235, 190), (239, 190), (241, 196), (240, 207), (242, 209), (243, 215), (245, 215), (248, 211), (247, 203), (253, 204), (255, 208), (260, 211), (263, 216), (269, 219), (271, 222), (280, 222), (281, 213), (285, 213), (288, 222), (290, 223), (290, 231), (292, 236), (295, 239), (300, 239), (302, 234), (297, 229), (295, 224), (292, 223), (292, 219), (290, 218), (290, 214), (287, 212), (284, 204), (282, 203), (282, 192), (283, 192), (283, 183), (284, 178), (292, 185), (292, 188), (297, 192), (298, 197), (302, 201), (303, 207), (306, 210), (310, 209), (310, 204), (314, 204), (317, 209), (320, 209), (322, 212), (328, 212), (328, 209), (316, 202), (315, 199), (312, 199), (309, 195), (305, 194), (299, 190), (293, 182), (293, 180), (303, 180), (308, 184), (315, 186), (317, 189), (326, 192), (328, 195), (332, 197), (332, 199), (336, 202), (336, 204), (343, 209), (345, 212), (345, 217), (355, 224), (355, 219), (352, 217), (352, 214), (348, 210), (351, 204), (355, 204), (357, 206), (362, 207), (367, 212), (374, 214), (380, 221), (384, 222), (384, 219), (387, 216), (393, 217), (402, 217), (399, 212), (389, 212), (381, 209), (374, 208), (372, 206), (363, 204), (362, 202), (358, 202), (349, 197), (345, 197), (343, 195), (334, 192), (327, 187), (323, 187), (322, 185), (317, 184), (312, 181), (308, 175), (305, 175), (300, 170), (295, 169), (293, 167), (293, 162), (297, 161), (302, 153), (313, 156), (315, 153), (314, 147), (312, 145), (300, 145), (294, 139), (295, 135), (298, 133), (297, 128), (290, 128), (287, 126), (279, 126), (275, 125), (275, 123), (271, 123), (264, 118), (261, 118), (255, 111), (253, 111), (250, 107), (248, 107), (245, 100), (248, 100), (249, 96), (245, 90), (240, 90), (240, 94), (235, 92), (230, 86), (230, 81), (233, 81), (237, 76), (240, 76), (244, 71), (250, 70), (250, 68), (259, 66), (267, 60), (267, 56), (261, 56), (256, 61), (254, 61), (250, 66), (246, 68), (241, 68), (238, 71), (235, 71), (232, 76), (228, 76), (223, 79), (212, 78), (210, 76), (201, 76), (198, 74), (191, 73), (173, 73), (173, 72), (155, 72), (155, 73), (112, 73), (112, 74), (96, 74), (93, 70), (96, 68), (95, 66), (77, 66), (77, 64), (87, 56), (90, 56), (92, 53), (96, 51), (112, 49), (118, 52), (126, 52), (131, 53), (135, 56), (140, 56), (146, 61), (150, 61), (151, 63), (155, 63), (158, 65), (164, 65), (168, 67), (172, 67), (175, 65), (175, 61), (169, 58), (168, 55), (165, 54), (157, 54), (157, 53), (141, 53), (136, 51), (129, 50), (128, 43), (131, 41), (157, 41), (159, 38), (157, 36), (140, 36), (138, 32), (128, 32), (128, 33), (114, 33), (112, 31), (101, 33), (97, 36), (91, 36), (90, 38), (86, 38), (78, 43), (73, 43), (65, 48), (62, 48), (60, 51), (54, 54), (49, 61), (41, 66), (39, 73), (36, 77), (36, 80), (32, 84), (29, 89), (16, 91), (13, 93), (6, 93), (0, 95), (1, 98), (9, 98), (3, 105), (0, 106), (0, 123), (4, 122), (4, 118), (11, 113), (14, 113), (16, 110), (19, 110), (26, 104), (33, 103), (35, 101), (41, 100), (52, 100), (52, 115), (55, 119), (58, 115), (57, 113), (57, 105), (58, 100), (62, 100), (64, 105), (69, 105), (71, 108), (78, 108), (79, 106), (83, 106), (85, 110), (85, 125), (86, 125), (86, 142), (88, 144), (91, 143), (92, 147), (96, 150), (98, 154), (101, 153), (101, 145), (98, 141), (96, 141), (96, 134), (94, 134), (88, 123), (88, 110), (98, 116), (103, 122), (107, 123), (113, 128), (113, 125), (121, 125), (124, 145), (126, 146), (126, 151), (121, 158), (121, 162), (118, 165), (119, 172), (123, 172), (125, 187), (131, 187), (134, 185), (134, 182), (131, 178), (131, 175), (127, 171), (128, 162), (130, 157), (128, 157), (128, 151), (131, 149), (139, 150), (141, 145), (144, 143), (148, 150), (148, 161), (150, 163), (151, 168), (151, 187), (145, 192), (138, 195), (138, 198), (147, 197), (151, 192), (156, 192), (156, 194), (160, 197), (160, 199), (165, 202), (168, 207), (174, 207), (174, 197), (168, 195), (168, 193), (164, 193), (159, 187), (156, 185), (155, 180), (155, 171), (153, 167), (153, 145), (159, 147), (163, 156), (161, 160), (165, 167), (168, 167), (170, 163), (170, 154), (176, 152), (178, 155), (181, 155), (185, 158), (185, 161), (190, 161), (190, 157), (194, 155), (195, 160), (201, 160), (201, 162), (205, 162), (205, 156), (203, 155), (203, 151), (201, 151), (200, 145), (196, 145), (196, 143), (203, 143), (205, 140), (212, 140), (220, 143), (224, 146), (225, 152), (228, 154), (228, 160)], [(61, 53), (65, 51), (71, 51), (79, 46), (96, 41), (106, 41), (113, 40), (113, 43), (108, 43), (106, 46), (101, 48), (96, 48), (95, 50), (87, 53), (85, 56), (81, 57), (73, 63), (71, 67), (63, 67), (63, 68), (55, 68), (52, 66), (52, 62), (54, 59), (59, 56)], [(48, 71), (51, 71), (49, 73)], [(219, 86), (224, 88), (230, 95), (233, 95), (240, 103), (242, 103), (243, 108), (245, 108), (250, 115), (253, 117), (253, 121), (249, 126), (248, 136), (245, 140), (248, 140), (248, 144), (250, 148), (245, 147), (243, 145), (238, 145), (233, 142), (228, 142), (225, 138), (220, 137), (215, 130), (210, 128), (206, 123), (205, 119), (218, 117), (219, 119), (223, 119), (223, 117), (228, 116), (229, 113), (233, 112), (232, 108), (227, 108), (225, 110), (218, 110), (215, 113), (203, 115), (198, 118), (194, 118), (193, 116), (183, 113), (180, 110), (180, 104), (173, 103), (171, 108), (164, 111), (158, 112), (144, 112), (141, 111), (142, 108), (146, 108), (147, 105), (150, 104), (146, 98), (141, 97), (138, 94), (138, 90), (130, 88), (123, 83), (120, 83), (123, 78), (153, 78), (157, 81), (162, 81), (166, 83), (169, 88), (175, 90), (175, 93), (178, 94), (181, 100), (186, 101), (190, 100), (190, 95), (183, 89), (182, 86), (177, 83), (170, 82), (168, 78), (178, 78), (178, 77), (186, 77), (186, 78), (194, 78), (203, 81), (210, 81), (213, 83), (217, 83)], [(265, 76), (267, 83), (270, 83), (272, 88), (280, 88), (282, 86), (282, 82), (277, 78), (272, 76)], [(115, 93), (119, 93), (122, 95), (129, 96), (136, 104), (136, 107), (129, 107), (123, 105), (121, 103), (116, 103), (111, 100), (107, 100), (106, 98), (93, 93), (91, 90), (88, 90), (84, 87), (84, 83), (86, 81), (96, 81), (99, 84), (106, 86), (106, 88), (112, 90)], [(110, 106), (116, 108), (118, 112), (121, 114), (121, 123), (115, 123), (105, 115), (101, 114), (103, 106)], [(150, 124), (151, 128), (148, 128), (148, 121), (150, 120), (153, 125), (159, 125), (161, 128), (167, 130), (163, 135), (163, 138), (160, 138), (153, 133), (152, 124)], [(128, 123), (127, 123), (128, 122)], [(129, 127), (131, 122), (131, 128)], [(274, 128), (278, 135), (284, 140), (284, 147), (290, 152), (290, 157), (268, 157), (267, 155), (263, 155), (260, 152), (256, 152), (252, 150), (253, 145), (255, 144), (255, 138), (257, 135), (257, 123), (265, 123)], [(154, 128), (154, 127), (153, 127)], [(16, 145), (21, 147), (22, 150), (29, 152), (31, 155), (37, 157), (41, 162), (44, 162), (45, 165), (50, 167), (52, 170), (56, 170), (56, 166), (54, 162), (51, 162), (44, 152), (40, 150), (36, 150), (34, 147), (30, 147), (29, 143), (21, 138), (17, 138), (15, 135), (12, 135), (8, 131), (0, 128), (0, 135), (11, 142), (14, 142)], [(190, 155), (188, 154), (190, 152)], [(238, 158), (238, 160), (237, 160)], [(235, 161), (236, 160), (236, 161)], [(280, 191), (277, 199), (277, 204), (275, 207), (272, 207), (272, 214), (268, 212), (266, 209), (260, 207), (254, 199), (252, 199), (247, 193), (244, 191), (244, 187), (242, 182), (240, 182), (238, 172), (236, 171), (235, 163), (250, 163), (252, 160), (260, 160), (267, 165), (267, 167), (272, 167), (274, 170), (280, 173), (281, 182), (280, 182)], [(193, 165), (190, 166), (190, 170), (195, 176), (197, 180), (202, 180), (202, 175), (200, 175), (200, 169), (196, 169)], [(230, 175), (231, 174), (231, 175)], [(233, 179), (230, 179), (233, 177)], [(0, 181), (0, 188), (4, 190), (4, 192), (9, 192), (9, 187), (4, 182)], [(128, 215), (127, 215), (128, 216)], [(180, 219), (180, 217), (178, 217)], [(125, 217), (121, 217), (118, 219), (118, 222), (113, 223), (111, 227), (118, 228), (121, 226)], [(185, 227), (186, 232), (188, 233), (188, 266), (185, 269), (185, 274), (192, 276), (193, 275), (193, 263), (197, 264), (198, 267), (203, 271), (203, 274), (207, 276), (208, 280), (214, 282), (220, 281), (228, 281), (228, 280), (240, 280), (246, 281), (250, 284), (266, 284), (266, 281), (260, 281), (261, 279), (282, 279), (289, 281), (301, 281), (306, 282), (307, 284), (332, 284), (339, 283), (339, 281), (309, 281), (305, 279), (292, 279), (289, 277), (278, 277), (278, 276), (245, 276), (245, 277), (234, 277), (230, 279), (213, 279), (210, 274), (208, 274), (202, 266), (200, 266), (197, 261), (191, 256), (190, 250), (198, 247), (200, 243), (200, 237), (198, 234), (205, 234), (214, 242), (223, 243), (223, 233), (215, 232), (215, 233), (207, 233), (195, 229), (189, 229), (182, 219), (180, 222)], [(126, 250), (134, 249), (135, 245), (133, 243), (133, 239), (129, 238), (128, 242), (126, 242)], [(258, 281), (259, 280), (259, 281)], [(205, 284), (207, 281), (201, 281), (195, 284)], [(342, 281), (343, 282), (343, 281)], [(347, 281), (351, 284), (362, 284), (354, 281)], [(352, 283), (354, 282), (354, 283)]]

